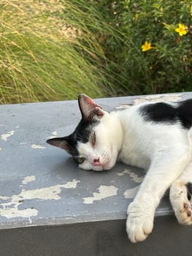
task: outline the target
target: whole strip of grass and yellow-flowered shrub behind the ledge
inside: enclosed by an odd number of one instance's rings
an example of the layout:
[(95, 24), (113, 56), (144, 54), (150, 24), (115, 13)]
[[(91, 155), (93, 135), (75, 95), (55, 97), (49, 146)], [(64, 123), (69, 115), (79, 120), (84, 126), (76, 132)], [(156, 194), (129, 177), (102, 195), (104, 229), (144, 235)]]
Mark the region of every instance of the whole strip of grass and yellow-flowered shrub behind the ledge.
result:
[(0, 0), (0, 103), (192, 89), (191, 0)]

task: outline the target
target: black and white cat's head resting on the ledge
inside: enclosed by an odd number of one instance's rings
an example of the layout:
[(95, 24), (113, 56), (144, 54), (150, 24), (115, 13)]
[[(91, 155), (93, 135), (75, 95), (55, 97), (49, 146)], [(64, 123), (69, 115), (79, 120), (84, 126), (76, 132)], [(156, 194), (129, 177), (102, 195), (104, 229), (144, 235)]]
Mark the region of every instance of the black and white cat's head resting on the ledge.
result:
[(85, 170), (108, 170), (115, 165), (122, 141), (118, 120), (85, 94), (78, 103), (82, 118), (71, 135), (47, 143), (66, 150)]

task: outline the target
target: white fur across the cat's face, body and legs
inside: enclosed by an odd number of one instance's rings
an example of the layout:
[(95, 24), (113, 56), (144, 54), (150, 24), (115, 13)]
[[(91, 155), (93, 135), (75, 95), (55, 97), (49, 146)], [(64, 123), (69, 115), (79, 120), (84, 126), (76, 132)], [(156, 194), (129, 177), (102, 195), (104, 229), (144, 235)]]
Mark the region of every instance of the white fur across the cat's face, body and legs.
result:
[[(192, 129), (188, 132), (179, 123), (145, 121), (139, 108), (137, 105), (120, 112), (104, 112), (100, 124), (93, 128), (96, 145), (78, 145), (80, 157), (86, 158), (80, 165), (82, 169), (110, 169), (117, 159), (147, 169), (137, 196), (128, 206), (126, 230), (132, 242), (145, 240), (152, 231), (155, 208), (171, 184), (170, 198), (178, 221), (185, 225), (192, 222), (188, 212), (183, 211), (185, 203), (187, 211), (191, 211), (184, 184), (185, 179), (192, 181)], [(98, 157), (101, 166), (94, 166)]]

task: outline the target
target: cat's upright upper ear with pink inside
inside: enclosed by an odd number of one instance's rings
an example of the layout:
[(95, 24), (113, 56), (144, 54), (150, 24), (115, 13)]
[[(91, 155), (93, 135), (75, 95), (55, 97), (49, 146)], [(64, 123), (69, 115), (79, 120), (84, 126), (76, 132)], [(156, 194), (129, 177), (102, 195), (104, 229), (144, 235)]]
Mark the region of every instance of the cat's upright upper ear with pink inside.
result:
[(80, 94), (78, 97), (78, 103), (82, 115), (82, 119), (88, 120), (93, 115), (96, 116), (104, 116), (104, 110), (102, 110), (101, 106), (97, 105), (93, 102), (93, 99), (88, 97), (85, 94)]

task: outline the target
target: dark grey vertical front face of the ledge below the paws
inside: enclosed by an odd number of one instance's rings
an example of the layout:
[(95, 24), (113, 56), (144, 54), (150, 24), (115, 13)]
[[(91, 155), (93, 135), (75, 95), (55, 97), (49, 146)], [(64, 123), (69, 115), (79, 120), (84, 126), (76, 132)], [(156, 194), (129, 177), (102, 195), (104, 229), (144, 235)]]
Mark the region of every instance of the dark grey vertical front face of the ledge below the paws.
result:
[(128, 241), (124, 228), (125, 220), (116, 219), (1, 230), (0, 255), (190, 255), (191, 227), (178, 225), (172, 216), (157, 217), (153, 233), (139, 244)]

